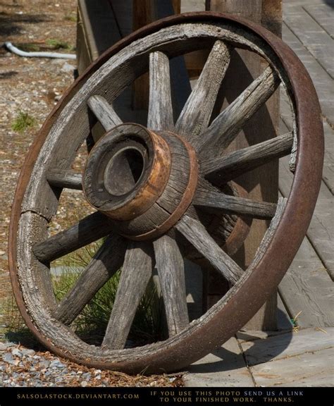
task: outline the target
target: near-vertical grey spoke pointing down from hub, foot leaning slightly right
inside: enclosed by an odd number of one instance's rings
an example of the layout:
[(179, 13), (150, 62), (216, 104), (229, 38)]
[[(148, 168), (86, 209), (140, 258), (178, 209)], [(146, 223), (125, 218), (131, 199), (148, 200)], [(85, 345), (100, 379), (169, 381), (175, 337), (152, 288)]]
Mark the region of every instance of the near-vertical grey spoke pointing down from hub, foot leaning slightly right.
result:
[(163, 235), (153, 245), (171, 337), (189, 324), (183, 257), (177, 243), (169, 235)]

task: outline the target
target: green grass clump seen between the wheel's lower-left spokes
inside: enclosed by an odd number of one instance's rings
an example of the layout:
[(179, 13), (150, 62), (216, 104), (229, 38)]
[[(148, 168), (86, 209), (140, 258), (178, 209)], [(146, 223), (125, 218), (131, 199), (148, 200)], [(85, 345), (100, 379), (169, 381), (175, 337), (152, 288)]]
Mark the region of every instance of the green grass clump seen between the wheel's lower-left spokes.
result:
[[(89, 264), (97, 247), (85, 247), (66, 259), (63, 270), (54, 276), (54, 293), (60, 301), (74, 285), (82, 269)], [(100, 345), (115, 302), (121, 269), (99, 290), (73, 322), (72, 328), (83, 340)], [(137, 308), (127, 346), (153, 343), (162, 338), (163, 303), (153, 281), (149, 283)]]

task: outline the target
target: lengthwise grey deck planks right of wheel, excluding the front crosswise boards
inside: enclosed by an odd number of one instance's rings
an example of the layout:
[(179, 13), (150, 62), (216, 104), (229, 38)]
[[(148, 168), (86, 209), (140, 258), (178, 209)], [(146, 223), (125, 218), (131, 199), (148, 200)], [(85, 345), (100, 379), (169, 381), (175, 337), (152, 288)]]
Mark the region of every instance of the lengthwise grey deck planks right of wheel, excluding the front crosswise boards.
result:
[[(283, 5), (283, 40), (314, 81), (321, 102), (326, 152), (314, 216), (307, 237), (280, 283), (279, 293), (292, 318), (301, 312), (299, 326), (333, 326), (334, 1), (285, 0)], [(281, 97), (281, 118), (280, 131), (284, 133), (292, 128), (285, 94)], [(288, 195), (291, 183), (288, 159), (280, 159), (279, 187), (283, 196)]]

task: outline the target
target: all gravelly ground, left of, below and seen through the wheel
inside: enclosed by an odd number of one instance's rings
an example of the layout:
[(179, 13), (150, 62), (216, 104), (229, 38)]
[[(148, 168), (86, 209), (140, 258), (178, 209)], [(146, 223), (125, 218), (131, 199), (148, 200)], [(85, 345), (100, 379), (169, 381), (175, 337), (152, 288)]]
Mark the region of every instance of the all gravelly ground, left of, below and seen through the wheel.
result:
[[(45, 50), (48, 39), (65, 41), (74, 47), (76, 4), (75, 0), (1, 1), (0, 47), (10, 41), (21, 48), (33, 43)], [(18, 174), (38, 129), (73, 82), (74, 70), (75, 61), (22, 58), (0, 48), (0, 386), (183, 386), (180, 376), (128, 376), (88, 369), (4, 339), (1, 308), (11, 297), (7, 236)], [(35, 126), (23, 133), (12, 129), (20, 111), (35, 119)], [(76, 165), (82, 166), (84, 158), (83, 148)], [(51, 233), (77, 220), (78, 211), (81, 215), (87, 211), (78, 192), (66, 191), (61, 204)]]

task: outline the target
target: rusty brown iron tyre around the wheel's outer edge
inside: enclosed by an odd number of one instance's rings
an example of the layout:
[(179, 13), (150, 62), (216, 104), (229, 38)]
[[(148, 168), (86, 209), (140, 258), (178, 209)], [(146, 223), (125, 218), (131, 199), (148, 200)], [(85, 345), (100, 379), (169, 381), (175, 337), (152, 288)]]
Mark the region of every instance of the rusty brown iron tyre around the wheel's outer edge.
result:
[[(292, 92), (295, 98), (295, 111), (297, 115), (297, 128), (299, 130), (299, 142), (297, 150), (297, 168), (292, 184), (292, 190), (288, 198), (287, 207), (280, 220), (271, 243), (262, 257), (259, 264), (252, 271), (247, 281), (235, 285), (229, 300), (221, 300), (215, 305), (218, 311), (208, 311), (202, 316), (203, 325), (193, 325), (192, 332), (185, 337), (179, 333), (172, 339), (166, 340), (163, 347), (159, 347), (153, 355), (142, 355), (130, 361), (123, 362), (97, 362), (87, 360), (82, 355), (81, 360), (51, 343), (49, 338), (43, 336), (32, 323), (30, 315), (25, 308), (25, 302), (18, 282), (16, 264), (16, 240), (18, 223), (20, 220), (21, 204), (25, 195), (27, 183), (30, 180), (32, 168), (39, 154), (39, 150), (44, 144), (44, 140), (49, 133), (51, 125), (54, 124), (59, 113), (67, 102), (78, 92), (82, 84), (99, 68), (107, 59), (116, 54), (120, 49), (130, 44), (130, 42), (140, 39), (151, 32), (163, 27), (179, 23), (234, 23), (242, 29), (252, 32), (273, 49), (283, 66), (290, 80)], [(103, 367), (109, 369), (122, 369), (130, 373), (145, 370), (147, 373), (157, 371), (175, 371), (186, 367), (191, 362), (203, 357), (208, 352), (219, 347), (225, 340), (233, 336), (266, 302), (273, 293), (276, 286), (283, 278), (284, 273), (292, 262), (299, 245), (302, 243), (304, 235), (309, 226), (311, 215), (316, 204), (318, 190), (321, 185), (322, 163), (323, 163), (323, 128), (320, 116), (320, 106), (316, 96), (316, 91), (309, 78), (307, 70), (297, 59), (295, 53), (287, 47), (278, 37), (259, 27), (245, 18), (228, 16), (221, 13), (187, 13), (172, 16), (158, 22), (152, 23), (137, 32), (132, 33), (121, 40), (89, 66), (85, 73), (78, 78), (63, 95), (61, 101), (49, 114), (47, 121), (42, 126), (39, 136), (33, 143), (30, 152), (27, 154), (25, 164), (20, 173), (18, 187), (13, 202), (11, 213), (11, 225), (9, 229), (9, 269), (13, 292), (20, 313), (25, 323), (35, 336), (50, 350), (56, 354), (73, 359), (75, 362), (85, 362), (91, 367)], [(307, 199), (305, 199), (307, 196)], [(288, 238), (287, 238), (288, 237)], [(281, 253), (284, 252), (284, 255)], [(233, 293), (233, 295), (232, 295)], [(212, 308), (211, 308), (212, 309)]]

